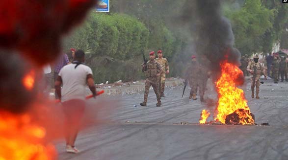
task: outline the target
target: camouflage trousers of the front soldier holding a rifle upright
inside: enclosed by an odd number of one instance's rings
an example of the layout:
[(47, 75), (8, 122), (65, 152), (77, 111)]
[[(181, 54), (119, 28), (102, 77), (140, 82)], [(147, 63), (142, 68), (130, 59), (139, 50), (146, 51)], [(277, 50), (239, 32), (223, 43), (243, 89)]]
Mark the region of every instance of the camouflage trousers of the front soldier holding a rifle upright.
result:
[(156, 97), (157, 97), (157, 102), (158, 103), (161, 103), (161, 100), (160, 100), (160, 94), (158, 92), (158, 79), (157, 77), (153, 77), (153, 78), (147, 78), (146, 79), (146, 82), (145, 82), (145, 91), (144, 91), (144, 102), (147, 103), (147, 99), (148, 99), (148, 94), (149, 94), (149, 89), (150, 89), (150, 86), (153, 87), (153, 90), (156, 94)]

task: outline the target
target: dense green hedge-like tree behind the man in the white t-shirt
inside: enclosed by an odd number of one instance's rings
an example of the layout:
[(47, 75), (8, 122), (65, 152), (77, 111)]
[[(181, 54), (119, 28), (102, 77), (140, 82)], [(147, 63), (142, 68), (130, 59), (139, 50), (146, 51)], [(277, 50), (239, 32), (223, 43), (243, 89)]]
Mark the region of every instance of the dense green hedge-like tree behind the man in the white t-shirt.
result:
[(136, 80), (141, 77), (140, 55), (147, 50), (149, 30), (125, 14), (92, 12), (86, 22), (64, 41), (65, 49), (83, 49), (96, 82)]

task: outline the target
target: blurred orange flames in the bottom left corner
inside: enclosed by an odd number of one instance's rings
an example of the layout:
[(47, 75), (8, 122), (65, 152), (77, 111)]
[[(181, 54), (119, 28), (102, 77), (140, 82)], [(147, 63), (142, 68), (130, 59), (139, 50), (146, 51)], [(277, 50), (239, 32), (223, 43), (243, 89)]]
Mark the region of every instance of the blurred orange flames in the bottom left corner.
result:
[(0, 160), (52, 160), (52, 144), (43, 145), (44, 128), (31, 123), (28, 114), (0, 113)]

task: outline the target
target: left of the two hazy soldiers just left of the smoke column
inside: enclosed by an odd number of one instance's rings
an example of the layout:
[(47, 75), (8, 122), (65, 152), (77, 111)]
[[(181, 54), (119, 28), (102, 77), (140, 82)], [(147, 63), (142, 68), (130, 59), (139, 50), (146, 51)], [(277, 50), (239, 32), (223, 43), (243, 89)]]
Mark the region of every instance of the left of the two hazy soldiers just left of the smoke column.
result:
[(196, 56), (192, 55), (192, 62), (189, 65), (186, 71), (185, 79), (188, 80), (191, 87), (189, 99), (196, 100), (196, 91), (197, 91), (197, 78), (198, 78), (199, 64), (196, 60)]

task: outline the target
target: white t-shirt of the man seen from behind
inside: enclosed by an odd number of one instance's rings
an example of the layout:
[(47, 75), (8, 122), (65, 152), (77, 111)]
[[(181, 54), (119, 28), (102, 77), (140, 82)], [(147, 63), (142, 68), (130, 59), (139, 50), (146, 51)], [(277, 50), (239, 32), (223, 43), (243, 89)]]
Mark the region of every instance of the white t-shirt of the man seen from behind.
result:
[(71, 99), (85, 99), (87, 75), (92, 74), (90, 67), (76, 64), (64, 66), (59, 76), (62, 78), (63, 88), (61, 90), (61, 101), (65, 102)]

